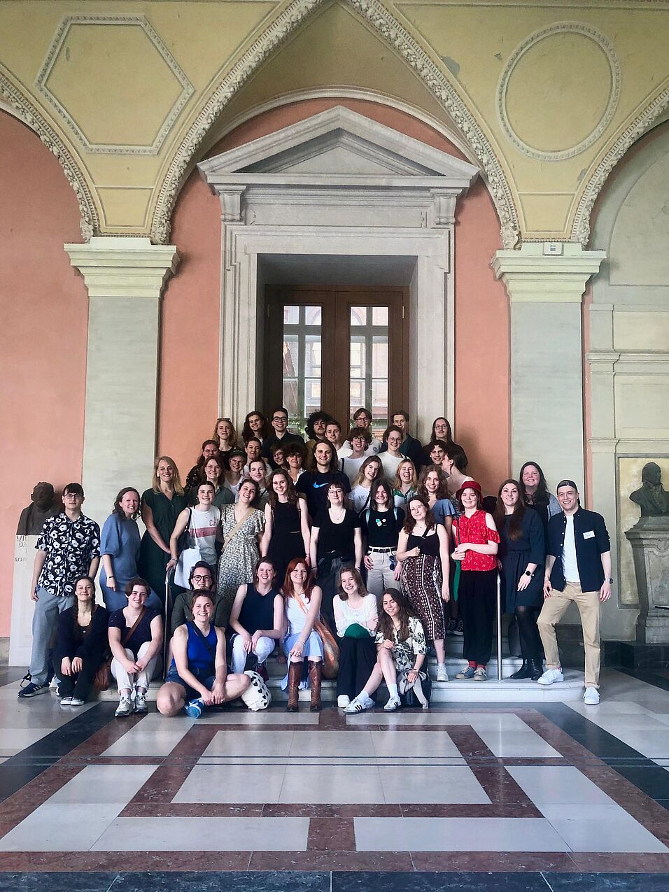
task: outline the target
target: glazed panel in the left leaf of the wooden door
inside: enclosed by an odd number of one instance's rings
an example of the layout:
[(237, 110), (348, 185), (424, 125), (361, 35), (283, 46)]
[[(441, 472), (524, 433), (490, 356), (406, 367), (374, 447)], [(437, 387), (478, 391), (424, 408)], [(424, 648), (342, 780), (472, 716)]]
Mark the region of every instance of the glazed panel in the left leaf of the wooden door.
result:
[(283, 398), (288, 427), (300, 434), (310, 412), (320, 409), (321, 308), (285, 305)]

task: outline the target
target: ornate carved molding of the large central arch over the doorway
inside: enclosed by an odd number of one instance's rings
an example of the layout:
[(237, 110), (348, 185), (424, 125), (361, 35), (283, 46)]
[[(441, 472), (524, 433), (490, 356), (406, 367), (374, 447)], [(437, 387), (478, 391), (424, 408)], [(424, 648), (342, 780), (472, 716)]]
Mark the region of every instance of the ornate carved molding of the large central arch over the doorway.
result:
[[(277, 50), (277, 47), (282, 45), (287, 37), (309, 18), (311, 13), (326, 2), (327, 0), (293, 0), (288, 4), (277, 20), (253, 42), (242, 58), (235, 63), (211, 95), (188, 129), (182, 144), (172, 157), (163, 179), (153, 212), (152, 237), (155, 241), (161, 244), (169, 242), (169, 218), (177, 201), (178, 192), (198, 148), (221, 111), (244, 86), (244, 83), (260, 68), (260, 65)], [(471, 147), (476, 161), (483, 169), (500, 218), (502, 244), (505, 248), (513, 247), (519, 237), (519, 225), (507, 178), (488, 138), (483, 134), (483, 130), (450, 81), (380, 0), (340, 0), (340, 2), (351, 6), (355, 12), (358, 12), (383, 37), (386, 44), (401, 55), (448, 112), (451, 120), (467, 140), (467, 145)]]

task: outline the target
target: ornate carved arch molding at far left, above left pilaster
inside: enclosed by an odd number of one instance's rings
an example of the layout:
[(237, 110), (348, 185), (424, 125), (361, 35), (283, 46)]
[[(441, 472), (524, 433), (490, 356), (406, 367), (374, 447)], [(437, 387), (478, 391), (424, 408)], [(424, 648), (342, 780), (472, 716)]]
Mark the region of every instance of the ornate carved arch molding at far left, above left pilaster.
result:
[(95, 209), (93, 195), (88, 188), (86, 178), (70, 154), (70, 151), (62, 142), (61, 137), (46, 122), (41, 112), (37, 110), (37, 107), (21, 93), (21, 90), (14, 87), (12, 82), (2, 72), (0, 72), (0, 96), (2, 96), (8, 109), (12, 111), (12, 114), (23, 121), (31, 130), (34, 130), (49, 152), (58, 159), (65, 178), (77, 195), (79, 213), (81, 214), (79, 229), (84, 241), (87, 242), (93, 235), (98, 235), (100, 233), (100, 219)]

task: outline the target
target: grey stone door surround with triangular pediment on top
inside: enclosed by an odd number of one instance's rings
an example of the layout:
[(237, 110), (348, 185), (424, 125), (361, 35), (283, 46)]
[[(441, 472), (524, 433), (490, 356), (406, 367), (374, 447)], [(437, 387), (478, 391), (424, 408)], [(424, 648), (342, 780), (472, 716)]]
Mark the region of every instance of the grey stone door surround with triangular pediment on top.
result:
[(224, 226), (221, 411), (261, 402), (264, 257), (402, 257), (412, 259), (398, 283), (409, 287), (410, 409), (452, 416), (452, 236), (474, 165), (335, 106), (198, 166)]

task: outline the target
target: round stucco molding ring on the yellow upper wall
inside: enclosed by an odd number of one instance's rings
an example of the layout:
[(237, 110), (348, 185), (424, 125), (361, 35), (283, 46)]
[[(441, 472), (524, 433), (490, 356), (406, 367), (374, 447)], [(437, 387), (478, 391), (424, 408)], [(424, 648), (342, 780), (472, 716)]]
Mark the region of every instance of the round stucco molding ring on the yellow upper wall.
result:
[[(518, 62), (520, 62), (520, 60), (523, 58), (524, 54), (528, 52), (528, 50), (532, 49), (533, 46), (540, 43), (541, 40), (545, 40), (546, 38), (554, 37), (559, 34), (578, 34), (582, 37), (588, 37), (596, 45), (599, 46), (599, 49), (607, 58), (608, 67), (611, 74), (611, 89), (608, 95), (607, 106), (602, 113), (602, 116), (599, 119), (597, 125), (591, 130), (588, 136), (585, 136), (579, 143), (577, 143), (576, 145), (572, 145), (567, 149), (556, 149), (555, 151), (547, 152), (541, 149), (536, 149), (532, 145), (528, 145), (527, 143), (525, 143), (524, 140), (516, 134), (516, 131), (511, 126), (511, 122), (508, 120), (507, 114), (508, 82), (514, 70), (516, 69), (516, 65), (518, 64)], [(597, 140), (604, 133), (614, 116), (615, 108), (618, 104), (619, 95), (620, 63), (618, 62), (618, 57), (615, 53), (615, 49), (613, 45), (607, 40), (607, 37), (604, 37), (604, 35), (600, 31), (592, 28), (591, 25), (583, 24), (580, 21), (558, 21), (552, 25), (549, 25), (548, 28), (542, 28), (539, 31), (534, 31), (533, 34), (525, 37), (524, 41), (520, 45), (518, 45), (514, 52), (510, 55), (508, 62), (505, 65), (504, 70), (502, 71), (500, 84), (497, 88), (497, 117), (500, 121), (500, 127), (502, 128), (502, 130), (504, 130), (508, 141), (512, 145), (515, 145), (516, 149), (519, 152), (529, 155), (530, 158), (535, 158), (538, 161), (565, 161), (567, 158), (574, 158), (574, 155), (585, 152), (585, 150), (590, 148), (593, 143), (597, 142)]]

